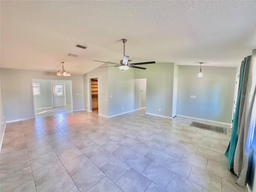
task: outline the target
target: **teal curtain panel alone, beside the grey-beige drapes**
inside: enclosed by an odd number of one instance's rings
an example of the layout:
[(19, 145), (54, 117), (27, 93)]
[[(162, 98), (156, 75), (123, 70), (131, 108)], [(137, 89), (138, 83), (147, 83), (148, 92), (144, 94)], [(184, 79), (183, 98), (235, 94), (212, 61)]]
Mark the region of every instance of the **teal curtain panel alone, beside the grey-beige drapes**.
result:
[(240, 108), (240, 100), (241, 100), (241, 93), (242, 93), (242, 84), (244, 79), (244, 67), (246, 64), (246, 58), (242, 61), (241, 68), (240, 68), (240, 81), (239, 81), (239, 90), (238, 90), (238, 97), (236, 102), (236, 112), (234, 115), (234, 121), (232, 124), (232, 133), (230, 143), (228, 145), (228, 149), (225, 153), (225, 156), (228, 158), (228, 168), (229, 170), (233, 170), (234, 167), (234, 155), (236, 151), (236, 144), (238, 141), (238, 116), (239, 116), (239, 108)]

